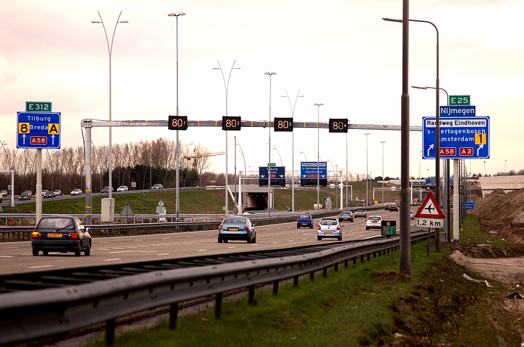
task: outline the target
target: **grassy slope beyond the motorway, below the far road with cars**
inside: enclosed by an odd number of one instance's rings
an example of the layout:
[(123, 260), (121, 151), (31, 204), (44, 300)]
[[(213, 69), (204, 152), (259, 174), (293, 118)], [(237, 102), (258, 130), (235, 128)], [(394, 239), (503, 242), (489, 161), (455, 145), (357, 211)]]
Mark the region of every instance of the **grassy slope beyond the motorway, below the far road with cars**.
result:
[[(333, 190), (334, 191), (334, 190)], [(180, 191), (180, 213), (182, 214), (199, 214), (199, 213), (216, 213), (224, 211), (224, 190), (190, 190)], [(334, 194), (321, 192), (320, 201), (331, 196), (333, 207), (335, 205)], [(162, 200), (168, 213), (175, 212), (176, 193), (174, 191), (155, 191), (148, 193), (114, 195), (115, 213), (120, 213), (126, 203), (135, 214), (155, 214), (158, 201)], [(340, 198), (340, 197), (339, 197)], [(312, 210), (313, 204), (316, 203), (316, 191), (295, 191), (295, 208), (297, 210)], [(101, 199), (93, 197), (92, 202), (93, 214), (100, 214)], [(230, 198), (230, 209), (233, 208), (233, 201)], [(287, 211), (291, 208), (291, 191), (275, 189), (275, 208), (277, 210)], [(5, 213), (35, 213), (35, 203), (21, 204), (14, 208), (4, 207)], [(42, 213), (63, 213), (63, 214), (81, 214), (85, 212), (85, 199), (71, 199), (42, 202)]]

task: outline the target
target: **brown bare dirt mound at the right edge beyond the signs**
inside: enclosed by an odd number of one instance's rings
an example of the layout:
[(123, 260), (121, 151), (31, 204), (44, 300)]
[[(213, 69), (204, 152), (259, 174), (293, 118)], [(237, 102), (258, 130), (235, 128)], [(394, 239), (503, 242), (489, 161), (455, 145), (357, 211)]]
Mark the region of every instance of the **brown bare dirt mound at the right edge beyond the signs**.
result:
[(478, 216), (485, 233), (524, 244), (524, 188), (507, 194), (494, 190), (475, 205), (473, 214)]

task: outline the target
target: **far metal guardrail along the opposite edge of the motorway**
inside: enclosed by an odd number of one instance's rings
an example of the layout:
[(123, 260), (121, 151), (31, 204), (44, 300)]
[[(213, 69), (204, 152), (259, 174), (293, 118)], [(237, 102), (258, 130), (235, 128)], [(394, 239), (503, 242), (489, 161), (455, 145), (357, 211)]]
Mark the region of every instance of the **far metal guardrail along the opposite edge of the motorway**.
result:
[[(372, 207), (366, 208), (367, 210), (378, 210), (382, 207)], [(355, 208), (347, 209), (355, 210)], [(321, 212), (312, 212), (311, 215), (313, 218), (325, 218), (339, 213), (337, 210), (326, 210)], [(289, 223), (294, 222), (297, 219), (297, 216), (300, 213), (275, 213), (277, 216), (266, 217), (266, 214), (242, 214), (242, 216), (249, 218), (257, 225), (268, 225), (268, 224), (278, 224), (278, 223)], [(52, 214), (43, 214), (52, 215)], [(5, 216), (5, 217), (4, 217)], [(9, 218), (9, 214), (0, 214), (0, 218)], [(27, 214), (28, 217), (19, 216), (18, 218), (35, 218), (34, 214)], [(72, 216), (77, 216), (83, 218), (83, 214), (73, 214)], [(220, 220), (214, 221), (184, 221), (184, 222), (157, 222), (157, 223), (133, 223), (133, 224), (93, 224), (86, 225), (91, 228), (91, 235), (95, 236), (114, 236), (114, 235), (141, 235), (141, 234), (163, 234), (163, 233), (178, 233), (178, 232), (188, 232), (188, 231), (198, 231), (198, 230), (214, 230), (218, 229), (220, 223), (222, 222), (223, 214), (194, 214), (187, 215), (193, 216), (193, 218), (200, 219), (212, 219), (212, 218), (221, 218)], [(176, 215), (136, 215), (135, 218), (149, 218), (149, 219), (159, 219), (159, 218), (175, 218)], [(121, 217), (122, 218), (122, 217)], [(133, 218), (133, 217), (128, 217)], [(31, 233), (35, 229), (35, 226), (7, 226), (0, 227), (0, 240), (31, 240)]]

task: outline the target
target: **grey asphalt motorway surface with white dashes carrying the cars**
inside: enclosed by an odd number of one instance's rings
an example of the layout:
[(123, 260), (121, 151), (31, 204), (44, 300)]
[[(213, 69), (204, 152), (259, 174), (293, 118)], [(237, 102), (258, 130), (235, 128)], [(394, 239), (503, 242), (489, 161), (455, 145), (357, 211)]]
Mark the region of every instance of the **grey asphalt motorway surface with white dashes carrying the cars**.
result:
[[(398, 222), (399, 213), (384, 210), (369, 211), (369, 215), (381, 215), (386, 220)], [(245, 241), (217, 242), (217, 231), (198, 231), (176, 234), (155, 234), (92, 239), (91, 255), (75, 257), (73, 253), (49, 253), (33, 256), (31, 242), (0, 243), (0, 275), (56, 270), (81, 266), (98, 266), (115, 263), (133, 263), (159, 259), (185, 258), (206, 254), (271, 250), (294, 246), (335, 242), (334, 238), (316, 240), (315, 220), (313, 229), (297, 229), (297, 223), (257, 226), (257, 243)], [(411, 231), (418, 230), (411, 222)], [(256, 222), (255, 222), (256, 224)], [(366, 231), (365, 219), (356, 218), (354, 223), (342, 222), (342, 240), (362, 240), (380, 235), (379, 229)], [(398, 223), (397, 223), (398, 225)], [(397, 233), (399, 230), (397, 229)]]

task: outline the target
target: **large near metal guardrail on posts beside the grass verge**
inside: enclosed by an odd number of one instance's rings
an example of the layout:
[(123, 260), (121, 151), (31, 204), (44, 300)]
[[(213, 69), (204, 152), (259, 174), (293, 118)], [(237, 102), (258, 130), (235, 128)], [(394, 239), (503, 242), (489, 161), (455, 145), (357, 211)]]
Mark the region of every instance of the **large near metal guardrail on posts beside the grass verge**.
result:
[[(411, 233), (411, 244), (426, 240), (428, 233)], [(399, 248), (398, 236), (343, 244), (321, 252), (266, 258), (218, 265), (154, 271), (123, 278), (62, 288), (10, 292), (0, 295), (0, 345), (14, 344), (65, 333), (106, 322), (106, 343), (114, 339), (115, 319), (139, 311), (171, 305), (170, 328), (176, 326), (178, 303), (215, 295), (215, 317), (221, 316), (222, 293), (245, 288), (253, 304), (255, 285), (293, 278), (370, 255)]]

